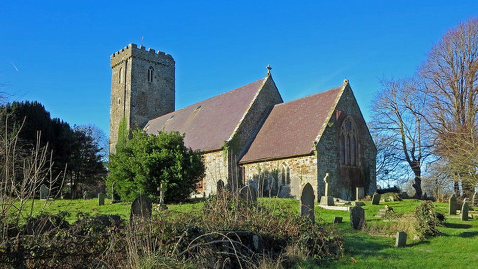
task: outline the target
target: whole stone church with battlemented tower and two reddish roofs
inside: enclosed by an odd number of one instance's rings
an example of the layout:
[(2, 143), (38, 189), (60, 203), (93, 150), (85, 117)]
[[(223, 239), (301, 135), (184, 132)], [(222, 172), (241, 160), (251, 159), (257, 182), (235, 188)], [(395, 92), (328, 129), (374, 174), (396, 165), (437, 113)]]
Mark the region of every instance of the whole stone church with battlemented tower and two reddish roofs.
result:
[(171, 55), (130, 44), (111, 55), (111, 68), (110, 152), (123, 117), (148, 134), (179, 131), (203, 152), (200, 195), (251, 185), (260, 196), (297, 198), (310, 183), (320, 200), (326, 173), (331, 196), (376, 191), (376, 147), (348, 80), (284, 102), (268, 67), (264, 78), (175, 110)]

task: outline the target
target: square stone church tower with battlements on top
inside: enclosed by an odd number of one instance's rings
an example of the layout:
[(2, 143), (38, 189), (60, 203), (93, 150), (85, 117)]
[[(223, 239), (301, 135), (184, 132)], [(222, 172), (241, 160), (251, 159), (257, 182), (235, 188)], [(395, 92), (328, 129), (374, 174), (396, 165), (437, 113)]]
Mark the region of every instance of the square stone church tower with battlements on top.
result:
[(171, 55), (136, 44), (111, 55), (110, 153), (123, 118), (128, 129), (143, 128), (174, 111), (174, 64)]

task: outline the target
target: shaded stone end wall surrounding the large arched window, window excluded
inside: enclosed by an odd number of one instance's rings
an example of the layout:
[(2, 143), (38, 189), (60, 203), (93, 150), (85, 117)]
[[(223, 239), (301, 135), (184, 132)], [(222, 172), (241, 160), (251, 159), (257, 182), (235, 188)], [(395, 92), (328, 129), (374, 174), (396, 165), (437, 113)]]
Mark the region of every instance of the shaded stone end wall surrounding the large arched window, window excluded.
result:
[[(324, 195), (323, 178), (329, 173), (329, 194), (343, 199), (355, 199), (355, 188), (364, 187), (365, 194), (376, 191), (375, 158), (376, 147), (362, 117), (357, 101), (349, 85), (331, 111), (330, 121), (322, 133), (317, 149), (318, 199)], [(358, 129), (358, 166), (340, 164), (339, 137), (345, 118), (351, 116)]]

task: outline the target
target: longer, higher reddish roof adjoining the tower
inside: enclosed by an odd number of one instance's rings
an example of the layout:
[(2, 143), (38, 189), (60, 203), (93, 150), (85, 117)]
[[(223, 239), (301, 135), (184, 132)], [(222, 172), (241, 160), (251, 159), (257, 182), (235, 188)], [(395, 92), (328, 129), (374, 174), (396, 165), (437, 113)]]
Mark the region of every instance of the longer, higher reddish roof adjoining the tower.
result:
[(146, 132), (179, 131), (184, 133), (184, 143), (192, 149), (203, 151), (220, 149), (227, 141), (265, 78), (236, 90), (206, 99), (183, 109), (171, 112), (146, 124)]

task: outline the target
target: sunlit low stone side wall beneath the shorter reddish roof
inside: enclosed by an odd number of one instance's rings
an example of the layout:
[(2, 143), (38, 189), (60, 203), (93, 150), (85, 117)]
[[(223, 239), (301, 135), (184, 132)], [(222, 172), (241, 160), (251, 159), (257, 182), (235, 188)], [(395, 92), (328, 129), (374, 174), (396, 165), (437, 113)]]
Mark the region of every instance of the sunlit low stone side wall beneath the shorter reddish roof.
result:
[[(314, 192), (317, 193), (317, 157), (314, 154), (244, 164), (243, 167), (246, 184), (253, 186), (256, 190), (262, 190), (263, 196), (268, 196), (270, 191), (271, 196), (278, 194), (279, 197), (284, 198), (299, 198), (300, 191), (307, 183), (310, 183)], [(283, 170), (285, 171), (286, 183), (288, 181), (287, 168), (290, 183), (281, 186)]]

